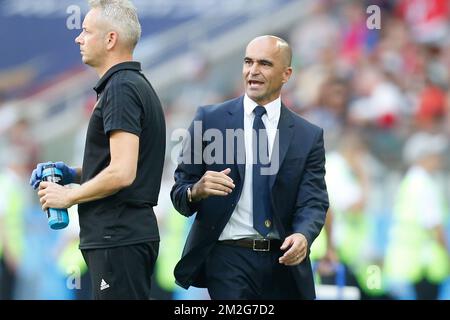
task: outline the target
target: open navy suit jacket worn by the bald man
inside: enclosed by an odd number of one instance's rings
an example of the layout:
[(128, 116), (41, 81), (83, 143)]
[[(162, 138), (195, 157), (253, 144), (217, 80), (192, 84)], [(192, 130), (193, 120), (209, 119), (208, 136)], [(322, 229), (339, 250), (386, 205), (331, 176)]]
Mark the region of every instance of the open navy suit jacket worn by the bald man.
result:
[[(200, 122), (194, 126), (195, 121)], [(218, 105), (199, 107), (194, 122), (189, 128), (190, 137), (185, 140), (188, 144), (184, 145), (182, 151), (181, 157), (185, 163), (179, 163), (175, 171), (175, 185), (171, 191), (172, 202), (181, 214), (190, 216), (197, 212), (182, 258), (174, 271), (177, 284), (184, 288), (191, 285), (206, 286), (202, 270), (204, 262), (239, 201), (245, 173), (245, 165), (236, 164), (240, 162), (236, 161), (237, 152), (245, 152), (237, 149), (239, 144), (236, 142), (234, 149), (231, 149), (234, 150), (234, 156), (228, 155), (227, 159), (224, 151), (223, 161), (202, 161), (195, 164), (195, 158), (202, 159), (205, 147), (214, 142), (202, 141), (202, 134), (208, 129), (216, 129), (216, 132), (219, 130), (223, 134), (223, 141), (217, 139), (214, 143), (224, 150), (226, 147), (230, 148), (233, 139), (225, 138), (225, 130), (244, 128), (243, 97)], [(199, 130), (200, 123), (202, 130)], [(280, 166), (278, 173), (270, 177), (274, 223), (282, 240), (299, 232), (306, 237), (310, 247), (325, 222), (328, 209), (323, 130), (284, 105), (281, 107), (278, 129)], [(273, 152), (276, 151), (274, 149)], [(211, 196), (196, 203), (188, 202), (187, 188), (196, 183), (206, 171), (222, 171), (228, 167), (231, 168), (229, 176), (235, 184), (231, 194), (225, 197)], [(290, 268), (303, 298), (313, 299), (315, 291), (309, 257)]]

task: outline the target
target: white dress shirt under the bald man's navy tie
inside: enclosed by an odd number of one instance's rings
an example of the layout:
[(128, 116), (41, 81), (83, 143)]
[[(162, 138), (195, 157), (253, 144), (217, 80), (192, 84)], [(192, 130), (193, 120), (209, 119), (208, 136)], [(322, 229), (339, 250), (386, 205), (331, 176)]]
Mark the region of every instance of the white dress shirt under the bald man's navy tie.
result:
[[(245, 136), (245, 179), (242, 187), (241, 197), (236, 205), (231, 218), (223, 229), (219, 240), (231, 240), (241, 238), (262, 238), (258, 232), (253, 229), (253, 154), (252, 154), (252, 129), (255, 114), (253, 109), (258, 104), (251, 100), (247, 95), (244, 96), (244, 136)], [(263, 106), (266, 113), (262, 116), (262, 121), (266, 127), (269, 140), (269, 157), (272, 156), (273, 144), (278, 128), (278, 121), (281, 113), (281, 98)], [(278, 232), (275, 230), (269, 233), (268, 238), (279, 239)]]

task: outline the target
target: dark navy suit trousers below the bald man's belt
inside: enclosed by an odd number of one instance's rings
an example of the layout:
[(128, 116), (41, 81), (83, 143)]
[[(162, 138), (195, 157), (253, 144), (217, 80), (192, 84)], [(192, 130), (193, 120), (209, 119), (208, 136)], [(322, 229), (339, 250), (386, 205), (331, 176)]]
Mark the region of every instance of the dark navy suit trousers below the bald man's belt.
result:
[(260, 252), (221, 244), (206, 261), (206, 285), (213, 300), (302, 299), (281, 250)]

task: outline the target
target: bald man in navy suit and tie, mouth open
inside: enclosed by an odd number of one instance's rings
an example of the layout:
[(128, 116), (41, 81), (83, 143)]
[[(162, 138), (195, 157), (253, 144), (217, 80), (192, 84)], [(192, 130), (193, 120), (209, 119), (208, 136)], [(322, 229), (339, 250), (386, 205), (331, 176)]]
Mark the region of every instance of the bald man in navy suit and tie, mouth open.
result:
[[(289, 111), (283, 39), (247, 46), (245, 95), (200, 107), (184, 141), (171, 197), (196, 213), (177, 283), (212, 299), (313, 299), (309, 248), (328, 209), (323, 130)], [(270, 161), (268, 161), (270, 159)]]

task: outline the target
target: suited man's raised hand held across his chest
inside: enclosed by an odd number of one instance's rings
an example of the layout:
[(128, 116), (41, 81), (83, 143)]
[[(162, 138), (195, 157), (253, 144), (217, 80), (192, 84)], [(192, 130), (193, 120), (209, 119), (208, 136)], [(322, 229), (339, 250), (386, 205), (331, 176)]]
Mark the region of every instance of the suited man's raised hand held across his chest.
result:
[(192, 201), (206, 199), (209, 196), (226, 196), (234, 189), (233, 179), (230, 174), (231, 169), (223, 171), (206, 171), (203, 177), (192, 187)]

